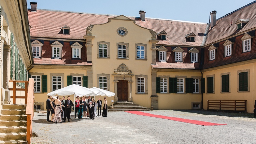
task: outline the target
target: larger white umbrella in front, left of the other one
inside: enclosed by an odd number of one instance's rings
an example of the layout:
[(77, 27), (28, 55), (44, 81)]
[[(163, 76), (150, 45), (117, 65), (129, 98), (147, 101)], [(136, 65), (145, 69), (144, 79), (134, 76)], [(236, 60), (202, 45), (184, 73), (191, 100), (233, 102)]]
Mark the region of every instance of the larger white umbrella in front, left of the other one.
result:
[(82, 87), (76, 84), (69, 85), (66, 87), (63, 87), (61, 89), (52, 91), (47, 93), (47, 96), (69, 96), (74, 95), (74, 102), (75, 102), (75, 96), (89, 96), (89, 95), (98, 95), (99, 92), (95, 90), (90, 90), (89, 88)]

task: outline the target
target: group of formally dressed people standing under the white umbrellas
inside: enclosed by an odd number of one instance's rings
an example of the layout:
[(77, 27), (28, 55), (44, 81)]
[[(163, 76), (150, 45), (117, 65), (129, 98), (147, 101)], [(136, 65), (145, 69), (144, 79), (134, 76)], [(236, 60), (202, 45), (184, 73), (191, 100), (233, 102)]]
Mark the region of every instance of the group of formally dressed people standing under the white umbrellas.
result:
[[(70, 96), (68, 96), (67, 100), (65, 100), (64, 96), (62, 97), (62, 99), (59, 98), (59, 96), (57, 96), (56, 99), (52, 98), (52, 96), (48, 96), (48, 99), (46, 100), (46, 120), (48, 122), (55, 122), (56, 124), (57, 122), (66, 122), (66, 119), (70, 121), (70, 113), (72, 106), (75, 107), (75, 118), (77, 114), (77, 118), (79, 119), (88, 117), (89, 119), (94, 119), (96, 103), (98, 103), (98, 115), (101, 115), (102, 100), (100, 98), (97, 102), (95, 102), (95, 100), (90, 96), (77, 96), (75, 102), (73, 103), (72, 100), (70, 100)], [(108, 116), (108, 104), (106, 101), (106, 97), (104, 97), (102, 117), (106, 116)]]

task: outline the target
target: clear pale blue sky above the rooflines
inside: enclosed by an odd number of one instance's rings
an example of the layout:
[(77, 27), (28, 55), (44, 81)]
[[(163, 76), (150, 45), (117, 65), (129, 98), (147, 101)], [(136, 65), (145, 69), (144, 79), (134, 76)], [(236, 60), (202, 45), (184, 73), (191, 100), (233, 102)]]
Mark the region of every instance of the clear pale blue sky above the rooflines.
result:
[(174, 20), (209, 22), (210, 12), (220, 18), (254, 0), (27, 0), (37, 2), (38, 9), (139, 16)]

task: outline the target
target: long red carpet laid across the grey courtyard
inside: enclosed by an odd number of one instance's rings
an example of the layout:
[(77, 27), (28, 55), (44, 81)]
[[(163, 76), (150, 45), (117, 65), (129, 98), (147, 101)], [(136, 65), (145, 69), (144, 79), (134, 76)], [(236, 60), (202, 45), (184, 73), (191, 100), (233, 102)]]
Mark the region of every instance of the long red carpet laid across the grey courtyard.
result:
[(143, 116), (151, 116), (151, 117), (156, 117), (156, 118), (163, 118), (163, 119), (181, 121), (181, 122), (184, 122), (184, 123), (190, 123), (190, 124), (196, 124), (196, 125), (202, 125), (202, 126), (227, 125), (227, 124), (209, 123), (209, 122), (206, 122), (206, 121), (199, 121), (199, 120), (190, 120), (190, 119), (184, 119), (184, 118), (178, 118), (178, 117), (154, 115), (154, 114), (144, 113), (144, 112), (140, 112), (140, 111), (126, 111), (126, 112), (131, 113), (131, 114), (143, 115)]

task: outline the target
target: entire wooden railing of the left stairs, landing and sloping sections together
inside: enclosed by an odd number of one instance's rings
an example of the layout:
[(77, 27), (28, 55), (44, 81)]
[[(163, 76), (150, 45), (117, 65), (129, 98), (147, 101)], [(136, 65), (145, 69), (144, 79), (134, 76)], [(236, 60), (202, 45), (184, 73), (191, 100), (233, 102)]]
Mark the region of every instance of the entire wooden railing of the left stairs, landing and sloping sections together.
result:
[[(16, 98), (24, 98), (26, 106), (26, 115), (27, 115), (27, 143), (31, 143), (32, 136), (32, 120), (34, 116), (34, 79), (29, 78), (29, 81), (9, 81), (13, 82), (13, 88), (9, 90), (13, 91), (13, 104), (16, 104)], [(16, 83), (25, 83), (25, 88), (16, 88)], [(16, 90), (25, 91), (25, 96), (16, 96)]]

